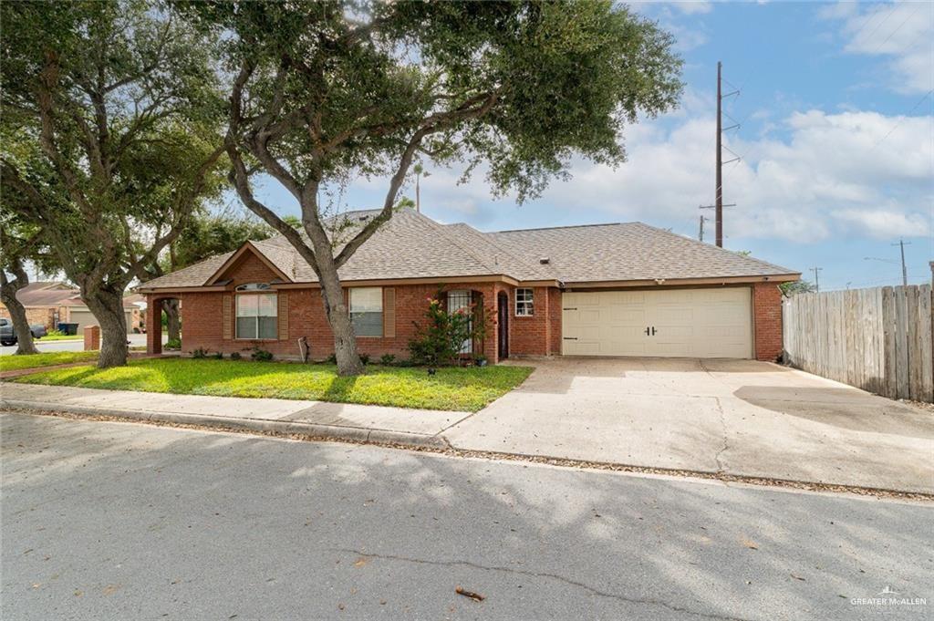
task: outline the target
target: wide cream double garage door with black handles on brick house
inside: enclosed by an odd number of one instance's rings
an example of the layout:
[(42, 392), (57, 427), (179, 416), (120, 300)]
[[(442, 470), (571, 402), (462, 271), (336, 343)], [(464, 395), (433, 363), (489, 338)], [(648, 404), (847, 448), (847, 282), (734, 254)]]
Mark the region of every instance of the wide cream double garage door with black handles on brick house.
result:
[(568, 356), (752, 358), (751, 289), (564, 293)]

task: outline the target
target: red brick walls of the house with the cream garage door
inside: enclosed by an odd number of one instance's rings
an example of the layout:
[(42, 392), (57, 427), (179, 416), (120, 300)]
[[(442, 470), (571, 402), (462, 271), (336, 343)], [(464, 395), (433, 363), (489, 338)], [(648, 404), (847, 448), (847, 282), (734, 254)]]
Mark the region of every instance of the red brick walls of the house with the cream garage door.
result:
[[(195, 349), (239, 352), (248, 357), (254, 347), (268, 350), (281, 359), (298, 359), (301, 351), (298, 339), (305, 337), (310, 346), (310, 357), (322, 360), (333, 353), (333, 335), (324, 315), (318, 288), (290, 288), (289, 285), (273, 289), (279, 296), (278, 338), (271, 340), (242, 340), (234, 338), (235, 298), (233, 289), (242, 284), (275, 281), (276, 275), (256, 256), (247, 253), (233, 264), (221, 278), (230, 278), (223, 291), (194, 291), (176, 294), (150, 293), (149, 308), (157, 307), (162, 298), (181, 301), (182, 348), (191, 354)], [(392, 285), (384, 288), (384, 321), (394, 315), (394, 330), (384, 325), (391, 336), (358, 337), (361, 354), (378, 358), (392, 354), (397, 359), (408, 358), (408, 344), (416, 334), (416, 323), (424, 320), (428, 300), (437, 294), (436, 283), (419, 285)], [(387, 294), (387, 289), (392, 294)], [(550, 356), (561, 353), (561, 292), (554, 287), (535, 287), (534, 314), (517, 317), (516, 288), (502, 282), (449, 285), (448, 290), (469, 289), (474, 302), (482, 301), (488, 329), (482, 344), (474, 351), (483, 353), (491, 363), (499, 360), (498, 351), (498, 296), (508, 296), (508, 345), (510, 356)], [(755, 347), (758, 360), (776, 360), (782, 353), (782, 299), (773, 283), (757, 283), (753, 289)], [(394, 299), (390, 310), (387, 303)], [(225, 304), (229, 305), (225, 310)], [(226, 315), (225, 315), (226, 313)], [(225, 335), (226, 332), (226, 335)], [(150, 352), (161, 350), (161, 318), (159, 313), (147, 314), (147, 342)]]

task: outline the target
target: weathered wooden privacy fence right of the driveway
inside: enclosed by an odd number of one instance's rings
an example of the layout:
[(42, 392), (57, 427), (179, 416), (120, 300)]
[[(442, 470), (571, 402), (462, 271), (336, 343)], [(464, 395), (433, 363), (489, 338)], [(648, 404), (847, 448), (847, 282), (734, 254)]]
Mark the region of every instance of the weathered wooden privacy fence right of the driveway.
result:
[(803, 293), (782, 304), (785, 361), (892, 399), (934, 402), (931, 286)]

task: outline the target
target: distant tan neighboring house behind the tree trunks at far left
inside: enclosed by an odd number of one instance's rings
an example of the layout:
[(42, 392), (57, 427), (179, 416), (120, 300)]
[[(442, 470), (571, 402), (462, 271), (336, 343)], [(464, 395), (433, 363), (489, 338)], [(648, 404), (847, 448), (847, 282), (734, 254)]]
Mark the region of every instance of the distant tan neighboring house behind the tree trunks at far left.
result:
[[(34, 282), (17, 291), (16, 299), (26, 309), (26, 320), (30, 324), (41, 323), (46, 330), (58, 328), (59, 323), (77, 323), (78, 332), (85, 326), (97, 324), (91, 310), (81, 301), (80, 291), (63, 282)], [(141, 296), (135, 300), (124, 298), (127, 332), (141, 332), (143, 319), (138, 303), (143, 303)], [(144, 303), (145, 304), (145, 303)], [(0, 317), (9, 318), (7, 307), (0, 303)]]

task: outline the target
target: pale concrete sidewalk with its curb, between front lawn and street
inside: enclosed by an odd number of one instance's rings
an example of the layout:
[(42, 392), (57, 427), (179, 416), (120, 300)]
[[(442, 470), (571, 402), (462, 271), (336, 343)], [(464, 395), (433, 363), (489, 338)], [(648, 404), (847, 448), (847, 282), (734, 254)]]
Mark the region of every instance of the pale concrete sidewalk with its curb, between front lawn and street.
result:
[(470, 412), (353, 403), (175, 395), (6, 382), (0, 384), (0, 406), (435, 447), (446, 446), (442, 431), (470, 416)]

